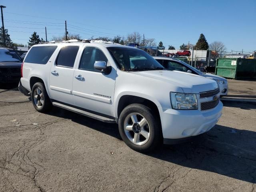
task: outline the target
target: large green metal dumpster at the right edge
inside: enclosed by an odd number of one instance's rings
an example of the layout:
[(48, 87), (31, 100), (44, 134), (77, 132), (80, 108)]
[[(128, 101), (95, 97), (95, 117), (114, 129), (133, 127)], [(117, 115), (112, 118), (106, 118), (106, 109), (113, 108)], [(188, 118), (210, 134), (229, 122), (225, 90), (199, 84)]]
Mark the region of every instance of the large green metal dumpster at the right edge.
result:
[(256, 59), (218, 58), (215, 74), (232, 79), (256, 78)]

